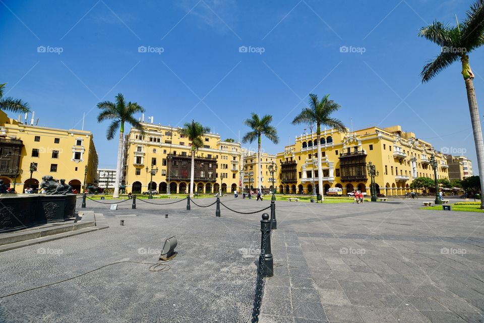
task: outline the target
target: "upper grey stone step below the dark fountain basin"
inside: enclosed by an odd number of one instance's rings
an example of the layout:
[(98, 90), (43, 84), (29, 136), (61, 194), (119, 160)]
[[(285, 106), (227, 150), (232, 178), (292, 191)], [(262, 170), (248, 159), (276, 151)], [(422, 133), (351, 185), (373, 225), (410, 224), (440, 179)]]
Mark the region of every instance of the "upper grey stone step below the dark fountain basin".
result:
[(94, 221), (80, 221), (76, 223), (55, 225), (47, 228), (44, 227), (41, 229), (31, 229), (31, 230), (26, 229), (26, 230), (22, 230), (21, 232), (3, 233), (0, 235), (0, 245), (20, 242), (20, 241), (25, 241), (30, 239), (42, 238), (49, 235), (76, 231), (76, 230), (93, 227), (93, 226), (94, 226)]

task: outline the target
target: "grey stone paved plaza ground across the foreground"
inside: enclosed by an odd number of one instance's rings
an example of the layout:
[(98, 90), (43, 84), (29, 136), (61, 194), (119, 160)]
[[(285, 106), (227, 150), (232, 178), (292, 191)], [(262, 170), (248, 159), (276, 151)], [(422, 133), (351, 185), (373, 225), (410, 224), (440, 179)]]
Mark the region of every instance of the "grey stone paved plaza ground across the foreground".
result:
[[(222, 202), (240, 211), (270, 203)], [(484, 322), (483, 215), (421, 204), (277, 202), (275, 275), (266, 279), (261, 322)], [(216, 218), (215, 206), (186, 211), (185, 201), (137, 207), (88, 201), (85, 210), (102, 213), (108, 229), (0, 253), (0, 296), (109, 263), (156, 262), (176, 235), (168, 271), (124, 263), (0, 298), (0, 321), (249, 322), (261, 213), (221, 207)]]

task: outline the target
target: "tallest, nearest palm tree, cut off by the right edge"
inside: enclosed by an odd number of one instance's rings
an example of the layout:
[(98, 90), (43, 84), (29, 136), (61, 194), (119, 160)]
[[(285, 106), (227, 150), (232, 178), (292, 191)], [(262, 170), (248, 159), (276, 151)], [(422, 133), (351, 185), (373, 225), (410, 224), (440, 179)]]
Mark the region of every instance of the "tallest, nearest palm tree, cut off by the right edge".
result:
[[(457, 19), (456, 19), (457, 20)], [(474, 74), (469, 66), (469, 53), (484, 44), (484, 0), (477, 0), (466, 13), (466, 18), (457, 26), (444, 25), (435, 21), (432, 25), (422, 27), (418, 35), (441, 46), (441, 53), (430, 60), (420, 73), (422, 83), (460, 60), (462, 76), (467, 90), (470, 119), (474, 133), (474, 144), (477, 155), (479, 174), (484, 174), (484, 144), (479, 122), (479, 110), (474, 90)], [(484, 176), (480, 176), (480, 187), (484, 191)], [(480, 198), (480, 208), (484, 209), (484, 195)]]

